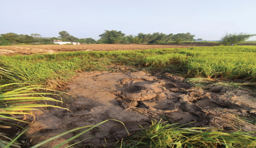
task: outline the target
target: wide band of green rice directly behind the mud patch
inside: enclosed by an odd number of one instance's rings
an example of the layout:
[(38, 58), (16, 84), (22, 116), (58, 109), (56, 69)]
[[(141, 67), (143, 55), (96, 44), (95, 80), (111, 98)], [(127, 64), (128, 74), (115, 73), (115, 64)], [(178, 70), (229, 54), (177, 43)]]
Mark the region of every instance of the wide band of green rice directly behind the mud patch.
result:
[[(164, 70), (187, 77), (256, 81), (256, 47), (194, 47), (136, 51), (63, 52), (32, 56), (0, 56), (0, 67), (11, 72), (12, 83), (55, 84), (77, 70), (111, 70), (113, 65)], [(112, 68), (112, 70), (114, 70)], [(5, 73), (0, 72), (0, 75)], [(2, 80), (3, 81), (3, 80)]]

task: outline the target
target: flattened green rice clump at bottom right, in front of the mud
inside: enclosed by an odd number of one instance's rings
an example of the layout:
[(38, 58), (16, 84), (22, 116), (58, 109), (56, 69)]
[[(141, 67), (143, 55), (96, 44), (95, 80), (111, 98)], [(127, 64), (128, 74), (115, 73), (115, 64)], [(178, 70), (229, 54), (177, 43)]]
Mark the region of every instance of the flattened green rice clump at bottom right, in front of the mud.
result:
[(153, 121), (122, 140), (121, 148), (255, 148), (253, 132), (225, 133), (210, 128), (182, 128), (177, 124)]

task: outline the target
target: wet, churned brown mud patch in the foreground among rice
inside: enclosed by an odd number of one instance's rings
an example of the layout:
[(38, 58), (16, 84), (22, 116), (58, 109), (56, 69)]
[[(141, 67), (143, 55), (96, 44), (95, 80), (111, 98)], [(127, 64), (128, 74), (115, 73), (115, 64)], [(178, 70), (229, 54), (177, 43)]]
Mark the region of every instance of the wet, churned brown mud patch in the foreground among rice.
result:
[[(117, 119), (130, 133), (148, 127), (162, 116), (173, 123), (225, 130), (256, 130), (256, 126), (236, 116), (256, 117), (256, 97), (241, 89), (212, 86), (208, 90), (191, 87), (184, 78), (138, 72), (83, 72), (68, 85), (73, 97), (65, 99), (72, 112), (48, 110), (28, 129), (32, 144), (76, 127)], [(48, 147), (74, 136), (71, 133)], [(127, 136), (123, 125), (109, 121), (82, 135), (79, 140), (102, 148)]]

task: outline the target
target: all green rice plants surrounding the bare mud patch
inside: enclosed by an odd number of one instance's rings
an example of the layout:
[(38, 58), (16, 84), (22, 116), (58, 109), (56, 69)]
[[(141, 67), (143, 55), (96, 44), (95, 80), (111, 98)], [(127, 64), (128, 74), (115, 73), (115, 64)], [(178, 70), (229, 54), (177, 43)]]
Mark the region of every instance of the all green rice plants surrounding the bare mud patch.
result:
[[(42, 100), (65, 102), (62, 99), (52, 99), (45, 96), (53, 95), (58, 98), (58, 95), (53, 94), (53, 89), (63, 90), (65, 84), (79, 72), (116, 71), (116, 68), (125, 66), (134, 71), (168, 72), (192, 79), (204, 77), (218, 80), (241, 80), (254, 84), (252, 82), (256, 82), (255, 57), (256, 46), (72, 51), (26, 56), (0, 56), (0, 100), (2, 102), (0, 103), (0, 128), (11, 128), (10, 124), (6, 126), (6, 123), (3, 122), (4, 118), (22, 121), (24, 115), (33, 117), (33, 111), (39, 111), (36, 107), (47, 106), (65, 109), (54, 105), (25, 103), (26, 101)], [(15, 108), (15, 106), (18, 106), (18, 108)], [(13, 114), (16, 114), (17, 118)], [(78, 136), (80, 136), (100, 124), (69, 130), (59, 136), (54, 136), (48, 141), (38, 143), (33, 148), (40, 147), (67, 133), (89, 128), (79, 133)], [(256, 138), (251, 135), (254, 132), (223, 132), (222, 129), (183, 127), (177, 124), (152, 121), (148, 129), (142, 129), (140, 132), (126, 137), (116, 147), (241, 148), (246, 146), (254, 148)], [(68, 139), (62, 145), (67, 144), (74, 138)], [(12, 139), (0, 132), (0, 145), (5, 146), (9, 141), (12, 141)], [(19, 148), (16, 139), (12, 142), (5, 148)]]

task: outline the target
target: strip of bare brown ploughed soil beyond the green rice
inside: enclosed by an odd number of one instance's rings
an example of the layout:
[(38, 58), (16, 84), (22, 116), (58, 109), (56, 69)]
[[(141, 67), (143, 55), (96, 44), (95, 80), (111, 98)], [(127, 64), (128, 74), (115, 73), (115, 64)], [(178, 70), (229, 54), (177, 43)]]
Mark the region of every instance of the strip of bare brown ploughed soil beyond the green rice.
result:
[(188, 48), (182, 45), (136, 45), (136, 44), (86, 44), (86, 45), (12, 45), (0, 46), (0, 55), (31, 55), (35, 53), (56, 53), (63, 51), (111, 51), (164, 48)]

